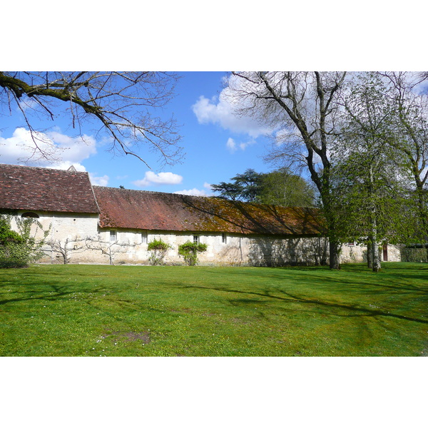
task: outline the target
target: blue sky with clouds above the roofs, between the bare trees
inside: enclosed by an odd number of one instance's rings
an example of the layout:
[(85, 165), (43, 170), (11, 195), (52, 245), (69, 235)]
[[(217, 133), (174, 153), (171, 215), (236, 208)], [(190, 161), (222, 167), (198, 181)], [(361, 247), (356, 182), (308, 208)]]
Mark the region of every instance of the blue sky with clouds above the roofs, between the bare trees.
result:
[(258, 172), (272, 170), (263, 161), (268, 139), (263, 128), (248, 119), (238, 119), (228, 106), (220, 101), (223, 78), (227, 73), (196, 71), (179, 73), (176, 96), (168, 104), (165, 115), (173, 113), (183, 136), (185, 157), (183, 163), (162, 168), (158, 157), (141, 152), (151, 170), (133, 156), (120, 156), (106, 151), (102, 134), (93, 126), (83, 126), (88, 144), (76, 143), (76, 130), (69, 118), (60, 115), (55, 121), (48, 118), (32, 119), (37, 131), (44, 131), (56, 145), (72, 147), (61, 154), (57, 163), (24, 163), (16, 144), (29, 141), (26, 124), (19, 111), (0, 116), (0, 162), (30, 166), (68, 168), (73, 164), (86, 170), (93, 184), (128, 189), (180, 192), (193, 195), (211, 195), (210, 184), (228, 181), (247, 168)]

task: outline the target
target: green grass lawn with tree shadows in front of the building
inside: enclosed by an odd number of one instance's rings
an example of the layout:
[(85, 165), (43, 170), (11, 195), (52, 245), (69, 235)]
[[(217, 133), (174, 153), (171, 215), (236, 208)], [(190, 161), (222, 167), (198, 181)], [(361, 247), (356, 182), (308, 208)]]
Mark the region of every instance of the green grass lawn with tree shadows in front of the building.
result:
[(0, 270), (1, 356), (420, 356), (428, 265)]

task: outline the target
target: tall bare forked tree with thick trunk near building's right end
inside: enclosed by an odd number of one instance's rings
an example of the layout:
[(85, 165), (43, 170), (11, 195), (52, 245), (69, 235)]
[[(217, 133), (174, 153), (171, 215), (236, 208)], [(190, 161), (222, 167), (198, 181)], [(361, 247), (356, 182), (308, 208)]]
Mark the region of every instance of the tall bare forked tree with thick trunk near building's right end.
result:
[(330, 188), (329, 146), (335, 141), (337, 96), (346, 73), (234, 72), (228, 93), (236, 112), (253, 116), (275, 129), (277, 139), (268, 161), (309, 171), (320, 192), (330, 240), (330, 268), (340, 268), (340, 239)]

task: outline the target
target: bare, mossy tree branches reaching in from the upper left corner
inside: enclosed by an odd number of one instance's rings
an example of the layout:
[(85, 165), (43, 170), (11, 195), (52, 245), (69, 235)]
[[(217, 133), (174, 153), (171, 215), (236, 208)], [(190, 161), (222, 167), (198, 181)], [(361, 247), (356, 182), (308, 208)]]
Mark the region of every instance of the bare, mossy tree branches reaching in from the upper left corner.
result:
[(181, 137), (173, 117), (164, 120), (156, 113), (173, 97), (177, 79), (174, 73), (151, 71), (4, 71), (0, 72), (0, 103), (9, 106), (9, 113), (16, 103), (24, 115), (34, 141), (29, 158), (51, 160), (52, 156), (46, 149), (49, 142), (31, 126), (31, 112), (45, 113), (54, 121), (54, 106), (63, 103), (80, 135), (83, 121), (94, 119), (111, 137), (111, 151), (136, 156), (146, 163), (140, 153), (143, 146), (169, 164), (180, 160)]

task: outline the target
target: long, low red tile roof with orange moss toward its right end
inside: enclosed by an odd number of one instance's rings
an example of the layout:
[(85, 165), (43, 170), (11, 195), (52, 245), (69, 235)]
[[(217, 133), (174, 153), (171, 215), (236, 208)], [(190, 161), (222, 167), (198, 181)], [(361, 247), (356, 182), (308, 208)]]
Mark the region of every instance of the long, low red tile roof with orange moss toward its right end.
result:
[(321, 230), (317, 210), (311, 208), (97, 186), (93, 190), (101, 228), (300, 236)]

